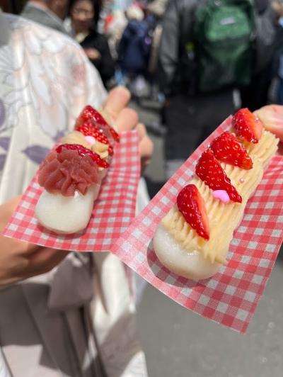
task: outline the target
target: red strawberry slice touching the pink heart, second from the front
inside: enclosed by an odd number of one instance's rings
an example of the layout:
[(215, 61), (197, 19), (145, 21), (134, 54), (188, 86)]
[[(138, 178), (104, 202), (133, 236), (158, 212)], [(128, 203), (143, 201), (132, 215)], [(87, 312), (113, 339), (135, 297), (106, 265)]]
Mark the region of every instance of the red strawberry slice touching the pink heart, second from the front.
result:
[(225, 190), (231, 201), (242, 203), (242, 197), (231, 184), (219, 162), (214, 157), (211, 149), (205, 150), (195, 167), (197, 176), (204, 181), (212, 190)]

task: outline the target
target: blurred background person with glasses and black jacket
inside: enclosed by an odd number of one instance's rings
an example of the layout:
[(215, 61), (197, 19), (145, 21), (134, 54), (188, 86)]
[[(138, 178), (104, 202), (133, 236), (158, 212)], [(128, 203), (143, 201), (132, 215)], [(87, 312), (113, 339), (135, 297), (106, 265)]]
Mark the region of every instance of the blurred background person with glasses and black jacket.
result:
[(103, 84), (115, 74), (115, 62), (112, 60), (108, 40), (98, 33), (94, 22), (95, 3), (91, 0), (74, 0), (70, 4), (71, 34), (80, 43), (88, 59), (98, 69)]

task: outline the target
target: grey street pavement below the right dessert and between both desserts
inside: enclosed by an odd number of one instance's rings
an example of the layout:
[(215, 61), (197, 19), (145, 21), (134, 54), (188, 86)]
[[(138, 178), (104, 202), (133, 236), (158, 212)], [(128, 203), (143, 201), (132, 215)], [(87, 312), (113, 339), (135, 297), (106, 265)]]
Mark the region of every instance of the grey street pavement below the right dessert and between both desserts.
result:
[[(149, 191), (164, 179), (163, 133), (156, 106), (139, 111), (154, 140), (146, 170)], [(283, 255), (272, 271), (246, 334), (204, 319), (146, 284), (137, 311), (139, 337), (150, 377), (280, 377), (283, 371)]]

